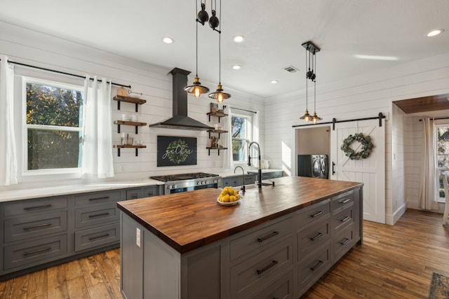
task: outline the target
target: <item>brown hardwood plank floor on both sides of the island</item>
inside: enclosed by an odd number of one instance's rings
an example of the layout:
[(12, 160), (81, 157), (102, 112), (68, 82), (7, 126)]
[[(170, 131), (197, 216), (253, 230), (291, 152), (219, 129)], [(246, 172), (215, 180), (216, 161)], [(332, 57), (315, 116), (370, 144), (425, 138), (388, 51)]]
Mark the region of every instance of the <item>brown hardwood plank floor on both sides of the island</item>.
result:
[[(409, 209), (396, 225), (363, 222), (349, 251), (302, 298), (427, 298), (432, 272), (449, 276), (449, 227)], [(0, 298), (121, 298), (114, 249), (0, 282)]]

